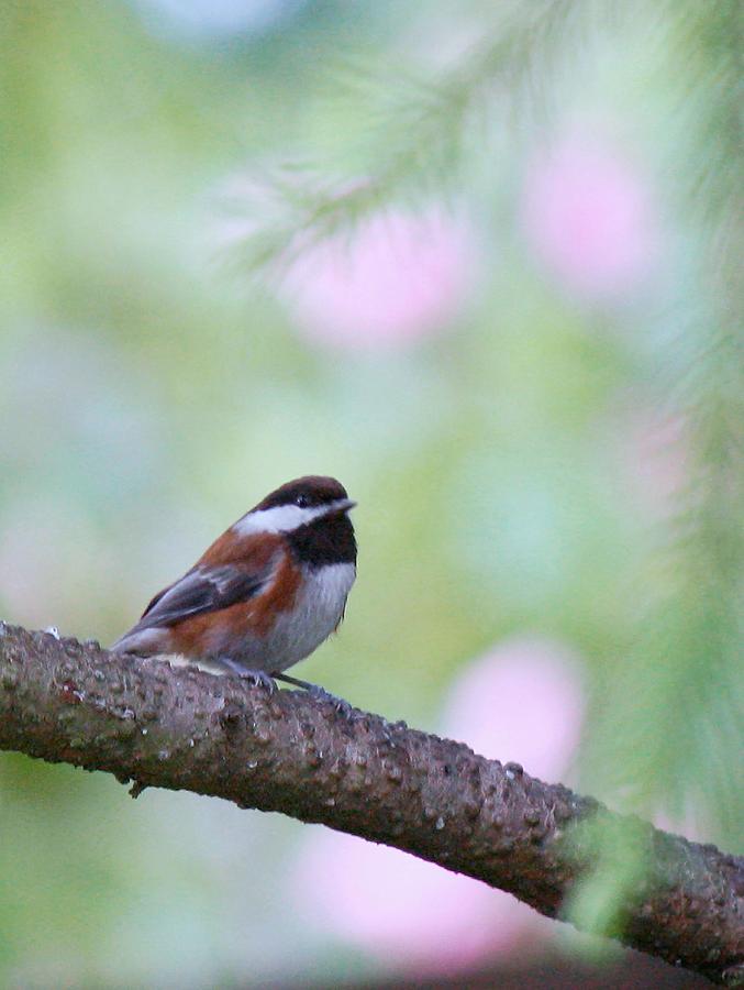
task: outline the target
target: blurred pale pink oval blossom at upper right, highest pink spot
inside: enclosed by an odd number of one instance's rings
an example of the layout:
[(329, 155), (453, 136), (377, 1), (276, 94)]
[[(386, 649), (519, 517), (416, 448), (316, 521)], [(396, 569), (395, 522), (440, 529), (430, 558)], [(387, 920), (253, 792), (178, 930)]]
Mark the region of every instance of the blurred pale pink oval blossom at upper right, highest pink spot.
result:
[(598, 140), (570, 138), (528, 170), (522, 222), (570, 294), (617, 297), (653, 268), (656, 223), (645, 176)]

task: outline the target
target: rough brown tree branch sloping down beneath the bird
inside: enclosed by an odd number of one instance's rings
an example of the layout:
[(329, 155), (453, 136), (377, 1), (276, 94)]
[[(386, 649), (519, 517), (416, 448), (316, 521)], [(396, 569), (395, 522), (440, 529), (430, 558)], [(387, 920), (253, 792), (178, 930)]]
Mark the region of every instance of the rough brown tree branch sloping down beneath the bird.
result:
[(0, 749), (321, 822), (509, 891), (549, 917), (597, 866), (589, 820), (646, 856), (625, 945), (744, 980), (744, 859), (617, 815), (459, 743), (299, 692), (0, 623)]

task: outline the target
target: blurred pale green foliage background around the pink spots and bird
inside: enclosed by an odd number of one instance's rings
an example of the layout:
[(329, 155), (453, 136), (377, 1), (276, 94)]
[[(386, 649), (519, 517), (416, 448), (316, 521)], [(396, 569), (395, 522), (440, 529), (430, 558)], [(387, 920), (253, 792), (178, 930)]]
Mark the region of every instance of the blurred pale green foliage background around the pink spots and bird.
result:
[[(121, 0), (0, 4), (0, 615), (109, 641), (269, 488), (335, 474), (359, 579), (303, 676), (429, 728), (468, 659), (554, 637), (586, 662), (584, 785), (741, 846), (741, 4), (524, 7), (307, 3), (185, 38)], [(633, 148), (662, 218), (610, 301), (545, 275), (518, 208), (577, 120)], [(267, 263), (432, 199), (479, 251), (444, 330), (298, 332)], [(660, 514), (637, 417), (684, 421)], [(9, 755), (0, 806), (0, 982), (365, 965), (292, 920), (293, 823)]]

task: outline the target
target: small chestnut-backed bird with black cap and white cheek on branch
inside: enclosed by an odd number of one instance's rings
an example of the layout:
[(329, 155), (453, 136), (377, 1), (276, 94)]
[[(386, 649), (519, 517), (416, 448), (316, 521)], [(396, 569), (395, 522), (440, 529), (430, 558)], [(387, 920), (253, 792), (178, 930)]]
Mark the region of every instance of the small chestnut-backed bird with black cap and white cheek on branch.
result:
[(356, 578), (356, 505), (333, 477), (281, 485), (230, 527), (182, 578), (159, 592), (120, 653), (179, 653), (269, 690), (327, 639)]

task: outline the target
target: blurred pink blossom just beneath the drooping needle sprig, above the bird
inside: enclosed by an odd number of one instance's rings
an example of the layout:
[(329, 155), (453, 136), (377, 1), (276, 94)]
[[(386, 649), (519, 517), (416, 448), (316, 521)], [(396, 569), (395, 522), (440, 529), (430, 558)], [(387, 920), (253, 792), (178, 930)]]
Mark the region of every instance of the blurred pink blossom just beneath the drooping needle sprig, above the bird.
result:
[(397, 348), (449, 323), (474, 283), (464, 222), (441, 210), (389, 211), (309, 249), (287, 278), (298, 329), (349, 350)]

